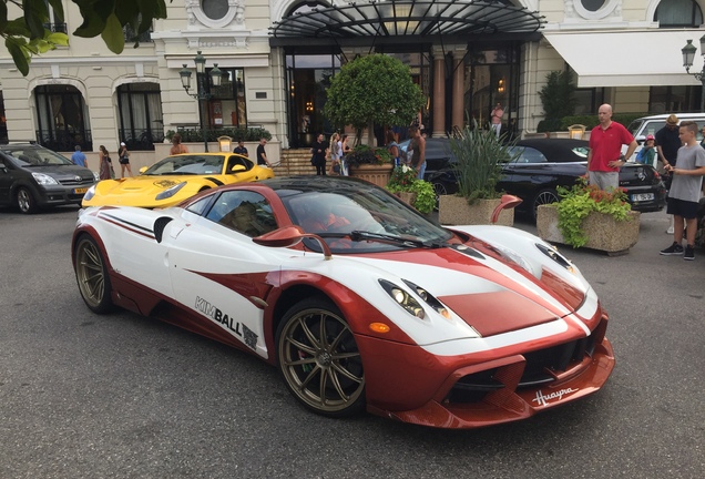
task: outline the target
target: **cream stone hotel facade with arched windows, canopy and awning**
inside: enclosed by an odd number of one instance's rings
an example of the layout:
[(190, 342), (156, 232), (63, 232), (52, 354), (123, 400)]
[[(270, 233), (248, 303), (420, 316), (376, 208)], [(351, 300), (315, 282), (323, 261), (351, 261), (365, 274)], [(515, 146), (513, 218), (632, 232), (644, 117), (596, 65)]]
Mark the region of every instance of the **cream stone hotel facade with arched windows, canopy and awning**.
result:
[[(409, 65), (431, 136), (468, 121), (487, 125), (495, 103), (505, 131), (534, 132), (546, 74), (566, 69), (576, 114), (596, 114), (604, 102), (622, 113), (701, 109), (703, 85), (681, 49), (699, 44), (705, 0), (173, 0), (167, 18), (121, 54), (100, 38), (73, 37), (82, 19), (63, 3), (64, 18), (52, 14), (48, 28), (68, 32), (69, 47), (33, 58), (27, 77), (0, 50), (0, 141), (61, 152), (115, 151), (125, 141), (149, 163), (168, 131), (203, 121), (262, 126), (268, 147), (305, 147), (336, 129), (323, 114), (330, 79), (369, 53)], [(206, 73), (217, 65), (222, 78), (213, 86), (203, 77), (203, 101), (180, 74), (195, 73), (198, 52)], [(699, 53), (692, 71), (702, 69)]]

